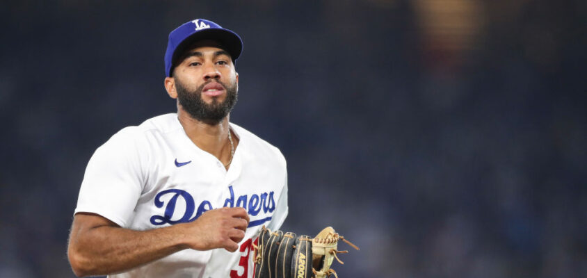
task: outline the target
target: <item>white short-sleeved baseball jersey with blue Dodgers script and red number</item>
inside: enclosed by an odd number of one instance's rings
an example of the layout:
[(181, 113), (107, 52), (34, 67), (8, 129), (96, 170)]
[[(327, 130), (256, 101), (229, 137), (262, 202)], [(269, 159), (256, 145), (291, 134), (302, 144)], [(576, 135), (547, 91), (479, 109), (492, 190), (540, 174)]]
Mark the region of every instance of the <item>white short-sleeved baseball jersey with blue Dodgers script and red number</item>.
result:
[(253, 240), (262, 225), (274, 231), (287, 216), (286, 164), (279, 149), (230, 126), (240, 141), (229, 170), (188, 138), (175, 113), (122, 129), (96, 150), (75, 213), (134, 230), (190, 222), (223, 206), (241, 206), (250, 216), (234, 253), (182, 250), (110, 277), (252, 277)]

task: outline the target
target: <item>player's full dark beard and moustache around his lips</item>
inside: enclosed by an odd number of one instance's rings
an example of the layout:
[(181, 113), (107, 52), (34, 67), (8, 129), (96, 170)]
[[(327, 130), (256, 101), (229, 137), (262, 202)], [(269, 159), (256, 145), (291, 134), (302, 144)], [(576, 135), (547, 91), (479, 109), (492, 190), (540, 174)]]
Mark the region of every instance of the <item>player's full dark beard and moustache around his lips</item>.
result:
[(239, 84), (234, 82), (231, 85), (226, 85), (220, 81), (216, 81), (223, 85), (226, 90), (226, 97), (224, 101), (218, 101), (217, 97), (212, 98), (212, 102), (207, 104), (202, 99), (202, 90), (209, 82), (203, 83), (195, 90), (190, 90), (186, 85), (175, 78), (175, 90), (177, 90), (177, 100), (182, 105), (184, 110), (191, 115), (195, 120), (204, 122), (206, 124), (219, 124), (232, 111), (236, 99), (238, 98)]

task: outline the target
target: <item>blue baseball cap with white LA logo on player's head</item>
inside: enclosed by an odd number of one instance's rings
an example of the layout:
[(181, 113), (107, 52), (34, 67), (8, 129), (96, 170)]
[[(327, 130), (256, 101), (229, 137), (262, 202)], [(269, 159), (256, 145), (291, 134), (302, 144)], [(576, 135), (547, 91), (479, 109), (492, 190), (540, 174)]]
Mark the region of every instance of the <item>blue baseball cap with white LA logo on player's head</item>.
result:
[(171, 77), (173, 63), (182, 54), (185, 47), (198, 40), (216, 40), (230, 54), (233, 63), (241, 56), (243, 41), (233, 31), (206, 19), (195, 19), (186, 22), (169, 33), (167, 50), (165, 51), (165, 73)]

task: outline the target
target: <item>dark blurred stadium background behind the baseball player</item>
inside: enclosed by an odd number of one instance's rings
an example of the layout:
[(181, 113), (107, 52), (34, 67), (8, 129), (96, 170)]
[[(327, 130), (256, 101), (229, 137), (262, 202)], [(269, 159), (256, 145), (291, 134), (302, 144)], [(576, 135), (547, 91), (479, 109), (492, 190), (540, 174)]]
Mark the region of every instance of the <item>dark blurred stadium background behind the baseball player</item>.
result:
[(239, 33), (231, 120), (280, 147), (284, 230), (359, 245), (339, 277), (587, 277), (587, 2), (5, 1), (0, 277), (74, 277), (83, 171), (175, 111), (168, 33)]

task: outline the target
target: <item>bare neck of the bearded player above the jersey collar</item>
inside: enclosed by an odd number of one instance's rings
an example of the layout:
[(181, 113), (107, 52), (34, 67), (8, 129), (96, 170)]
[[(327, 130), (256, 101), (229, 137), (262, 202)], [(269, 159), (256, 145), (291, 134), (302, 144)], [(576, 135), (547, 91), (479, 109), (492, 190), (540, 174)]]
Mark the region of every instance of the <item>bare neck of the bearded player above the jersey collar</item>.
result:
[[(230, 160), (230, 142), (228, 142), (228, 124), (230, 115), (227, 115), (218, 124), (207, 124), (196, 120), (181, 106), (177, 109), (177, 118), (184, 127), (188, 138), (204, 152), (216, 156), (219, 161), (226, 163)], [(236, 145), (234, 146), (236, 147)]]

